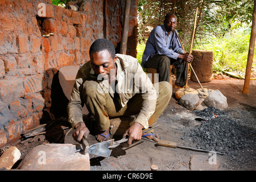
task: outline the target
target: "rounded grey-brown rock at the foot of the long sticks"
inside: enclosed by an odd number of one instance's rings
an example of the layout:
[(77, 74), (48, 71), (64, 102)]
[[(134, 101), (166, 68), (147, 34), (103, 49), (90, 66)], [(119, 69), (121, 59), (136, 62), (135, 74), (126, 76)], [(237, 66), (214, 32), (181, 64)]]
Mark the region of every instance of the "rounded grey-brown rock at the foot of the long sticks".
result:
[(189, 110), (194, 110), (200, 104), (200, 98), (197, 96), (197, 94), (189, 93), (182, 96), (179, 103)]

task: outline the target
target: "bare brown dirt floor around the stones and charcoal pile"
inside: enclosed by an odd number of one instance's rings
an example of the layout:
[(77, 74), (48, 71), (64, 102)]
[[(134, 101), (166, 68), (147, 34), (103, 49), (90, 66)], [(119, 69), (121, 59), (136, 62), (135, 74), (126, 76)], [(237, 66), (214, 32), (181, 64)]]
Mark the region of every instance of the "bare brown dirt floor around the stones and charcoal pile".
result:
[[(227, 98), (229, 106), (224, 111), (229, 114), (229, 117), (233, 118), (241, 127), (249, 127), (252, 131), (255, 131), (256, 80), (251, 80), (250, 90), (247, 95), (242, 94), (244, 80), (237, 78), (215, 75), (212, 81), (201, 84), (204, 88), (220, 90)], [(188, 86), (193, 89), (200, 88), (197, 82), (191, 80), (188, 81)], [(173, 89), (173, 94), (176, 90), (176, 88)], [(195, 118), (198, 118), (195, 113), (180, 106), (173, 95), (167, 109), (158, 119), (157, 123), (160, 126), (154, 129), (154, 133), (158, 133), (162, 140), (196, 148), (196, 143), (193, 143), (192, 138), (185, 136), (192, 129), (200, 126), (201, 121), (197, 121)], [(253, 137), (255, 139), (255, 136)], [(115, 140), (121, 139), (121, 137), (116, 136), (114, 138)], [(27, 146), (23, 144), (17, 144), (16, 146), (24, 156), (32, 147), (42, 143), (32, 142)], [(65, 143), (72, 143), (71, 133), (65, 138)], [(96, 143), (93, 135), (89, 135), (88, 143)], [(215, 169), (221, 171), (255, 170), (256, 159), (254, 152), (255, 145), (243, 150), (242, 154), (244, 155), (240, 155), (239, 158), (232, 155), (217, 155), (218, 166)], [(148, 171), (150, 166), (155, 164), (158, 166), (159, 171), (189, 171), (191, 170), (191, 157), (195, 155), (208, 156), (208, 153), (163, 147), (148, 140), (141, 140), (130, 147), (126, 143), (121, 144), (112, 150), (109, 158), (90, 155), (90, 170)]]

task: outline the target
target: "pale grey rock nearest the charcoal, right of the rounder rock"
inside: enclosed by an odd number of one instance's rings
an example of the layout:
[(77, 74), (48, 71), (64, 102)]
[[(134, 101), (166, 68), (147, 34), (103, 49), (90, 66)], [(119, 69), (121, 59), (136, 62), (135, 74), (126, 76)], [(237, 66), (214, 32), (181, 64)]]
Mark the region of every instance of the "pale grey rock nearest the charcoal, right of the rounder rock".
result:
[(220, 92), (220, 90), (214, 90), (204, 100), (205, 105), (208, 107), (216, 107), (217, 109), (224, 110), (228, 108), (228, 102), (226, 97)]

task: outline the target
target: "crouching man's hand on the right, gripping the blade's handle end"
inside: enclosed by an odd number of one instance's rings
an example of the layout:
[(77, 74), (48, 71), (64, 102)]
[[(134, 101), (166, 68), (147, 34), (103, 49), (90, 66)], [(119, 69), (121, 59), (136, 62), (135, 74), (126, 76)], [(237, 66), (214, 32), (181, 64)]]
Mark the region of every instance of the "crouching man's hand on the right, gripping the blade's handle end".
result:
[(142, 129), (143, 126), (140, 123), (134, 122), (134, 124), (131, 125), (128, 130), (126, 130), (125, 134), (123, 134), (123, 138), (125, 138), (126, 135), (129, 136), (127, 142), (128, 144), (131, 144), (133, 140), (140, 140), (142, 137)]

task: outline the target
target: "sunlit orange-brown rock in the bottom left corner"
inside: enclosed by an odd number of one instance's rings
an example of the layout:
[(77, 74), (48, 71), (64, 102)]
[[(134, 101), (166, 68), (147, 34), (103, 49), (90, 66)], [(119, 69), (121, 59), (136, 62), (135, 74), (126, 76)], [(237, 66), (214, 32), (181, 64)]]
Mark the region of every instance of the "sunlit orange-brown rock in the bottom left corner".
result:
[(5, 167), (6, 169), (11, 169), (13, 165), (19, 160), (21, 154), (18, 148), (10, 146), (0, 158), (0, 168)]

